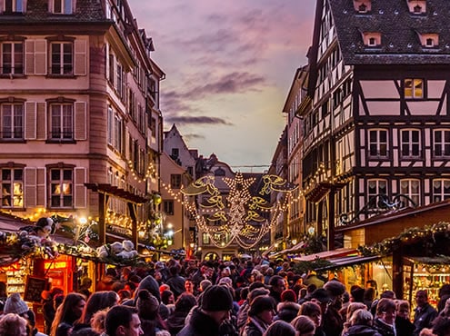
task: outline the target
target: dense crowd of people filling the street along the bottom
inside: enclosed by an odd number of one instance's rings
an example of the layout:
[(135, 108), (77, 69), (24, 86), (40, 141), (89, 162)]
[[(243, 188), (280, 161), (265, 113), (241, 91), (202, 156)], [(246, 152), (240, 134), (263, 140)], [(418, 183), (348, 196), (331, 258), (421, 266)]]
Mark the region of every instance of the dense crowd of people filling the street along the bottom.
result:
[[(43, 292), (45, 330), (18, 293), (0, 286), (0, 336), (450, 336), (450, 284), (437, 307), (426, 291), (410, 303), (361, 286), (297, 274), (289, 262), (155, 262), (108, 268), (77, 292)], [(1, 283), (1, 282), (0, 282)]]

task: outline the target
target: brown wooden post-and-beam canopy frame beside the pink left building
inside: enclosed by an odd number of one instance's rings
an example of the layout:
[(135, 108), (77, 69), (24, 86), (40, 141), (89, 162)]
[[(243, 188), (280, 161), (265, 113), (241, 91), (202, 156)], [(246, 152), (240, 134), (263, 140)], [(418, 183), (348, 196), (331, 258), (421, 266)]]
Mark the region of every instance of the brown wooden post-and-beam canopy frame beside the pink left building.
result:
[(133, 222), (131, 240), (135, 244), (135, 248), (137, 248), (139, 236), (137, 234), (136, 206), (147, 203), (149, 200), (107, 183), (85, 183), (85, 187), (94, 193), (98, 193), (98, 240), (100, 245), (106, 242), (105, 214), (109, 200), (113, 196), (125, 201), (127, 204)]

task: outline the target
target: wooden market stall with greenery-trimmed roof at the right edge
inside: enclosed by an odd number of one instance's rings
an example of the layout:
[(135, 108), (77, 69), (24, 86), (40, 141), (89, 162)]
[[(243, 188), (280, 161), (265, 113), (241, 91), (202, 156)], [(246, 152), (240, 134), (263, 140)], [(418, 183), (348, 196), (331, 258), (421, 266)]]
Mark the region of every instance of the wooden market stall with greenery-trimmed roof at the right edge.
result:
[(372, 262), (368, 274), (379, 289), (386, 284), (397, 298), (411, 301), (413, 292), (427, 288), (433, 302), (437, 289), (450, 283), (450, 257), (445, 257), (450, 256), (445, 241), (450, 237), (449, 218), (450, 202), (446, 200), (385, 212), (336, 232), (344, 234), (347, 248), (362, 247), (368, 254), (383, 255), (381, 261)]

